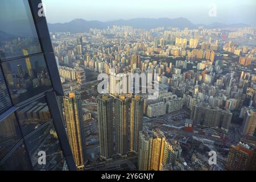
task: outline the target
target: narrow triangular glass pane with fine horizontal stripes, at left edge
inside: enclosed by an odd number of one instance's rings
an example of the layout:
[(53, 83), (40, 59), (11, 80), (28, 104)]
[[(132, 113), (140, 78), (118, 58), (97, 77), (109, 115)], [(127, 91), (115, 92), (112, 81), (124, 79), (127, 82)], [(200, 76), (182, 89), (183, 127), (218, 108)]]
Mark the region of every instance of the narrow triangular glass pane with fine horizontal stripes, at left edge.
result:
[(5, 80), (0, 69), (0, 114), (11, 107), (11, 100), (6, 89)]

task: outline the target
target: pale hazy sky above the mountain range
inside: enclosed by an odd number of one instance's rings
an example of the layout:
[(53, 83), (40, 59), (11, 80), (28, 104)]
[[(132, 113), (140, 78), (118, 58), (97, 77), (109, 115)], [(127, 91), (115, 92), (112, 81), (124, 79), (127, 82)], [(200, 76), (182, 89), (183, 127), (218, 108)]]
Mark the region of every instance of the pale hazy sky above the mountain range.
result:
[[(179, 18), (192, 23), (247, 23), (256, 26), (255, 0), (43, 0), (49, 23), (76, 18), (117, 20)], [(209, 11), (216, 5), (216, 16)], [(212, 12), (212, 11), (211, 11)]]

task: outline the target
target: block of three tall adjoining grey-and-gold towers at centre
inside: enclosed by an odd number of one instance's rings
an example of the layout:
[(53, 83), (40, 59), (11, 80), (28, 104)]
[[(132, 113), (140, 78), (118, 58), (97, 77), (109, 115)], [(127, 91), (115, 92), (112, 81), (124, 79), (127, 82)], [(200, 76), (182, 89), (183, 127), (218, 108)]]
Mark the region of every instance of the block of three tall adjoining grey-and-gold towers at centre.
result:
[(97, 98), (101, 155), (126, 155), (138, 151), (139, 131), (142, 130), (143, 99), (141, 96), (108, 94)]

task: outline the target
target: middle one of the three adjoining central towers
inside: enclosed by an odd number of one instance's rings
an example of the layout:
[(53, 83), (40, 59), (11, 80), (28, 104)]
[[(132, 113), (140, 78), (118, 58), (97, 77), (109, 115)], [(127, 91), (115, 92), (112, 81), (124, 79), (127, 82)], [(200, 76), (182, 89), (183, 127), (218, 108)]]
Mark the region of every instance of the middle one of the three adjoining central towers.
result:
[(125, 155), (129, 149), (129, 99), (115, 98), (115, 152)]

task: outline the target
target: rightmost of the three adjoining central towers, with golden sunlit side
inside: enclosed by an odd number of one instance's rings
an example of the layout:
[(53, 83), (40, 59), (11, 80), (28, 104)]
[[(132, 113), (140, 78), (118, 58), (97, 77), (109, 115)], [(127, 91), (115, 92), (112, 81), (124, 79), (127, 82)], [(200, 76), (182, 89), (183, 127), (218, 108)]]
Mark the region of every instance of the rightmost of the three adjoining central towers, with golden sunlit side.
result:
[(143, 100), (135, 95), (131, 99), (130, 107), (130, 150), (138, 152), (139, 131), (142, 130)]

